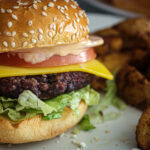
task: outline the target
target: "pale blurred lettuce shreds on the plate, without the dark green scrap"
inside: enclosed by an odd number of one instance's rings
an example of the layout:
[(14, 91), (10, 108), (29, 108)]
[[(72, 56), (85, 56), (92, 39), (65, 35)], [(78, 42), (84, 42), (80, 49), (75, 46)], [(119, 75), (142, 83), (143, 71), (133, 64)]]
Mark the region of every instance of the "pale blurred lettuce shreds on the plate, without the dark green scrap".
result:
[(127, 107), (126, 104), (117, 96), (117, 86), (115, 80), (106, 81), (105, 91), (104, 97), (100, 100), (99, 104), (95, 106), (94, 110), (88, 112), (91, 119), (97, 120), (97, 122), (114, 120), (120, 116), (118, 112), (107, 112), (108, 108), (111, 106), (117, 110), (125, 110)]

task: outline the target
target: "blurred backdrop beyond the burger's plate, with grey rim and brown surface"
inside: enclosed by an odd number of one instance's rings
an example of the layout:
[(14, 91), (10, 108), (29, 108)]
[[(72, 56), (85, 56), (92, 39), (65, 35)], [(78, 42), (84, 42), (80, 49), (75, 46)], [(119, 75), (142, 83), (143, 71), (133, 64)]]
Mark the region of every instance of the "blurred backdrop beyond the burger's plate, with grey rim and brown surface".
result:
[(89, 13), (102, 13), (127, 18), (150, 15), (150, 0), (77, 0)]

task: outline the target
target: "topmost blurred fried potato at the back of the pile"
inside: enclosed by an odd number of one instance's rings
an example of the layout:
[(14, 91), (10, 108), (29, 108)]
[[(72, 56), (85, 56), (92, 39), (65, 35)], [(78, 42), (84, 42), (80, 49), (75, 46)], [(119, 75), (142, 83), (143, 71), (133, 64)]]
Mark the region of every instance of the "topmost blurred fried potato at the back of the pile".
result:
[[(136, 43), (138, 48), (150, 48), (150, 18), (128, 19), (113, 27), (126, 39), (125, 45)], [(130, 44), (129, 44), (129, 43)], [(133, 44), (132, 44), (133, 43)], [(133, 45), (134, 46), (134, 45)]]

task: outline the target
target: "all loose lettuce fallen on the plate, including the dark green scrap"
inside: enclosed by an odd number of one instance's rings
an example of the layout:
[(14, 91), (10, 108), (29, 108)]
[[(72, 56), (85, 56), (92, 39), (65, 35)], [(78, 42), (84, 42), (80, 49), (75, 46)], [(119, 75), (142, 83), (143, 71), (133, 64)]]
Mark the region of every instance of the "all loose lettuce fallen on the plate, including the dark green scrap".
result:
[(92, 130), (94, 125), (101, 122), (118, 119), (119, 112), (108, 111), (108, 108), (114, 107), (116, 110), (124, 110), (126, 104), (117, 96), (117, 86), (115, 80), (106, 81), (106, 89), (104, 97), (100, 100), (97, 106), (89, 108), (87, 114), (81, 123), (74, 128), (73, 132), (78, 130)]

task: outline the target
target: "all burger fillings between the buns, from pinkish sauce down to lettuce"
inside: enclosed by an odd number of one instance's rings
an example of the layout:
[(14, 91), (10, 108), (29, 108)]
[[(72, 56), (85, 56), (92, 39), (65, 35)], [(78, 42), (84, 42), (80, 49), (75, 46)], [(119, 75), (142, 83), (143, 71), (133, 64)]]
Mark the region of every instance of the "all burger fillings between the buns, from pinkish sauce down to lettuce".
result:
[(1, 53), (0, 116), (15, 122), (35, 115), (51, 120), (61, 118), (69, 107), (78, 117), (82, 100), (89, 106), (98, 104), (100, 95), (89, 84), (95, 75), (113, 78), (95, 60), (91, 48), (102, 42), (100, 38), (75, 45)]

